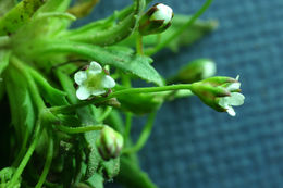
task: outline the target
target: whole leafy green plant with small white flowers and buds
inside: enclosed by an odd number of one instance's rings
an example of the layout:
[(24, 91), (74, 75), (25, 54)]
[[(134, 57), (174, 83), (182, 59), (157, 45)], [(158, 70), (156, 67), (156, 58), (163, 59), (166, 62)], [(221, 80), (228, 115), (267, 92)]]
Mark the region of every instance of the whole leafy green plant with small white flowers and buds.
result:
[[(214, 21), (197, 20), (212, 0), (193, 16), (175, 15), (173, 21), (165, 5), (144, 14), (149, 1), (135, 0), (78, 28), (70, 28), (71, 23), (89, 13), (97, 0), (72, 8), (70, 0), (0, 1), (0, 102), (2, 114), (11, 115), (1, 123), (5, 154), (0, 187), (99, 188), (114, 176), (127, 187), (156, 187), (136, 153), (163, 102), (195, 93), (235, 115), (232, 105), (244, 102), (239, 83), (210, 77), (216, 71), (211, 60), (197, 60), (165, 79), (149, 58), (213, 30)], [(162, 10), (155, 11), (164, 8), (169, 15), (160, 20)], [(156, 86), (134, 88), (136, 78)], [(135, 115), (148, 121), (133, 143)]]

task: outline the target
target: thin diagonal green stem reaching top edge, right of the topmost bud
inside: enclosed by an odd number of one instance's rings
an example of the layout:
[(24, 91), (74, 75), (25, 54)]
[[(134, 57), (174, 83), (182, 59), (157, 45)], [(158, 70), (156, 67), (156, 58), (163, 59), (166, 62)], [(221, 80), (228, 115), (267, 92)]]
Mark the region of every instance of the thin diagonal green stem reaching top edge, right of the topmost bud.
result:
[(192, 18), (189, 18), (189, 21), (187, 23), (185, 23), (182, 27), (180, 27), (174, 34), (172, 34), (169, 38), (167, 38), (167, 40), (164, 40), (163, 42), (157, 45), (153, 49), (148, 50), (148, 52), (146, 53), (147, 55), (152, 55), (155, 53), (157, 53), (159, 50), (161, 50), (162, 48), (164, 48), (169, 42), (171, 42), (172, 40), (174, 40), (177, 36), (180, 36), (186, 28), (188, 28), (189, 26), (192, 26), (195, 21), (202, 15), (206, 10), (210, 7), (210, 4), (212, 3), (213, 0), (207, 0), (205, 2), (205, 4), (193, 15)]

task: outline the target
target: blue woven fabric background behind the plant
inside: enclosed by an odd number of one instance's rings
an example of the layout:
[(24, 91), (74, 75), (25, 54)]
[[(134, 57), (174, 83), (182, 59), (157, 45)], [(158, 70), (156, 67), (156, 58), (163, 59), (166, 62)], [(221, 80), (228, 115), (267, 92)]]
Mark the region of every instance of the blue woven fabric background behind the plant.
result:
[[(163, 2), (189, 14), (205, 1)], [(101, 0), (83, 22), (130, 3)], [(161, 188), (283, 187), (283, 1), (214, 0), (201, 16), (208, 17), (219, 20), (218, 30), (179, 54), (157, 54), (155, 66), (170, 76), (190, 60), (211, 58), (218, 75), (241, 75), (245, 104), (230, 117), (196, 97), (167, 103), (139, 152), (143, 168)]]

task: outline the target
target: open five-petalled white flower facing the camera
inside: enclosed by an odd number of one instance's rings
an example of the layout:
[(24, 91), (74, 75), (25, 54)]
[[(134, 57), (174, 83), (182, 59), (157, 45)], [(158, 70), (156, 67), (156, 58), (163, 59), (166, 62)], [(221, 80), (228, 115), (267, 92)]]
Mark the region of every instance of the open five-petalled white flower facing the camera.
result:
[(90, 96), (100, 96), (115, 86), (115, 80), (106, 75), (102, 67), (95, 61), (90, 62), (86, 71), (77, 72), (74, 79), (78, 85), (76, 97), (79, 100), (85, 100)]

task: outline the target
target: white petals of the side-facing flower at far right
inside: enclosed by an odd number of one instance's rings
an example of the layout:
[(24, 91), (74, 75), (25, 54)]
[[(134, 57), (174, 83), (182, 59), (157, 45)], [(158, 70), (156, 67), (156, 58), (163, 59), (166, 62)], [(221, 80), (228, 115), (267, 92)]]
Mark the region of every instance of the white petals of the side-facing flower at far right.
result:
[[(238, 80), (239, 76), (236, 77), (236, 80)], [(226, 89), (231, 91), (231, 95), (227, 97), (222, 97), (219, 99), (218, 104), (226, 110), (229, 115), (235, 116), (236, 112), (232, 108), (232, 105), (242, 105), (244, 104), (245, 96), (239, 92), (233, 92), (239, 90), (241, 83), (232, 83), (230, 84)]]

